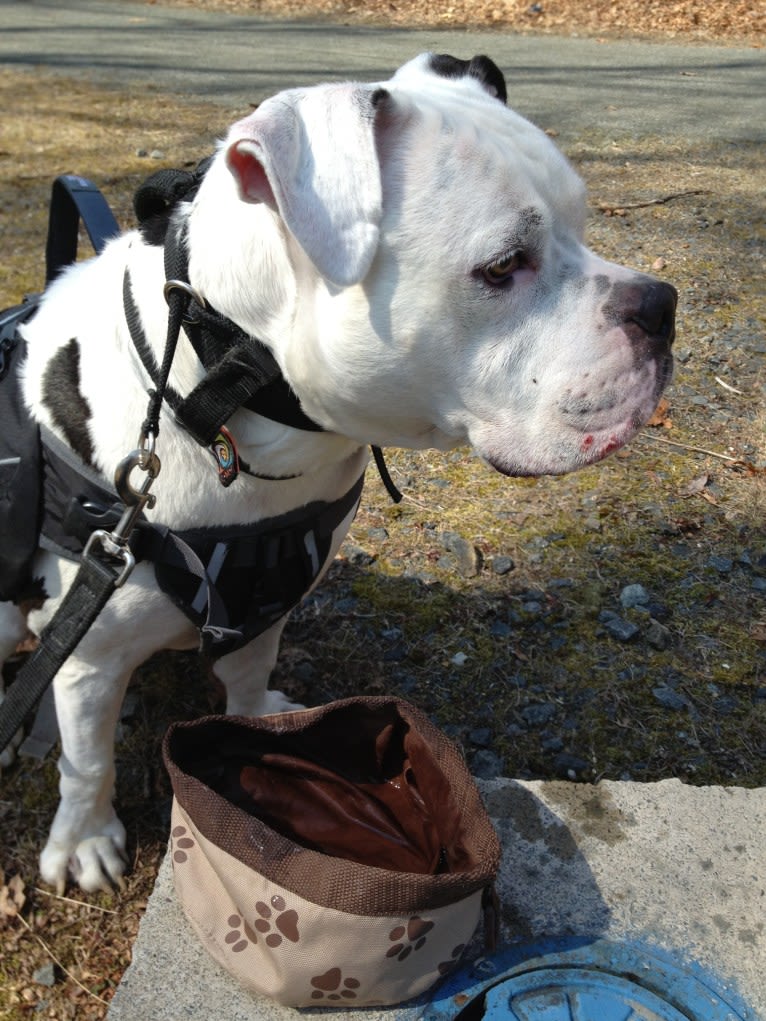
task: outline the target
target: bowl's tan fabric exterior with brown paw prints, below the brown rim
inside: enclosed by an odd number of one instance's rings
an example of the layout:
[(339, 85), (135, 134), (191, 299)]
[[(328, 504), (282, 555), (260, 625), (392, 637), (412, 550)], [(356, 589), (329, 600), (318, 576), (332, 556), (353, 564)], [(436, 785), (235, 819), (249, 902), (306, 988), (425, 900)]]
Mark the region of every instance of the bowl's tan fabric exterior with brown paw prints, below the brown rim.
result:
[(459, 961), (481, 891), (423, 915), (348, 915), (253, 873), (174, 803), (176, 890), (210, 956), (256, 992), (292, 1007), (401, 1003)]

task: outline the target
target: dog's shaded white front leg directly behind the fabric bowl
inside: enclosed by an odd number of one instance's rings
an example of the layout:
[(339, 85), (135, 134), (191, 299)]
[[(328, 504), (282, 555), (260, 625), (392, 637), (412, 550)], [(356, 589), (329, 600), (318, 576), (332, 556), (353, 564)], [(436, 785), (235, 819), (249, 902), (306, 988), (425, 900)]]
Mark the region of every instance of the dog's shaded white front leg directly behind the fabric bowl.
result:
[(238, 716), (267, 716), (302, 709), (282, 691), (269, 691), (286, 619), (258, 635), (247, 645), (222, 657), (213, 673), (226, 688), (226, 711)]

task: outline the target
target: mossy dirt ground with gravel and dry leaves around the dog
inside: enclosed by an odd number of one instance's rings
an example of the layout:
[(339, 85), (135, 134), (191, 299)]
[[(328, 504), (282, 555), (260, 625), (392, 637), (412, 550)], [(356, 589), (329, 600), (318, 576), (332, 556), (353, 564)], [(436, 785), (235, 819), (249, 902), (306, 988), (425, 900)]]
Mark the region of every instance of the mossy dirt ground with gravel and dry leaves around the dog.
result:
[[(752, 44), (764, 11), (743, 2), (540, 6), (287, 0), (269, 9)], [(129, 226), (136, 186), (157, 165), (206, 155), (221, 128), (220, 109), (203, 103), (75, 80), (61, 115), (51, 100), (59, 84), (0, 71), (0, 307), (40, 286), (52, 173), (97, 168)], [(158, 148), (161, 164), (137, 154)], [(679, 290), (667, 401), (627, 450), (563, 479), (502, 479), (466, 450), (392, 451), (404, 501), (393, 506), (370, 473), (342, 556), (288, 626), (277, 684), (312, 703), (394, 690), (431, 714), (482, 775), (763, 785), (762, 152), (593, 136), (567, 154), (589, 188), (591, 246)], [(636, 585), (647, 601), (626, 605)], [(117, 745), (131, 856), (119, 894), (58, 897), (39, 885), (55, 763), (21, 761), (3, 777), (0, 1019), (105, 1017), (167, 838), (162, 734), (173, 720), (221, 708), (194, 655), (159, 657), (137, 675)]]

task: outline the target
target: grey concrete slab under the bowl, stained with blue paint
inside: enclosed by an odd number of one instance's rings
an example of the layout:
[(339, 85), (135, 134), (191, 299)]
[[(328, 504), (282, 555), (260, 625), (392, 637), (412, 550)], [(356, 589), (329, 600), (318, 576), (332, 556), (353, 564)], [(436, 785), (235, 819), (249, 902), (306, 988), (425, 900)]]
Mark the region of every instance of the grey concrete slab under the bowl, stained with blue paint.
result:
[[(749, 1006), (739, 1016), (766, 1018), (766, 790), (678, 780), (477, 783), (504, 847), (504, 941), (640, 941), (716, 976)], [(480, 950), (473, 945), (469, 957)], [(351, 1008), (337, 1016), (417, 1021), (423, 1009)], [(108, 1021), (294, 1021), (315, 1014), (335, 1016), (254, 996), (207, 957), (176, 901), (165, 859)]]

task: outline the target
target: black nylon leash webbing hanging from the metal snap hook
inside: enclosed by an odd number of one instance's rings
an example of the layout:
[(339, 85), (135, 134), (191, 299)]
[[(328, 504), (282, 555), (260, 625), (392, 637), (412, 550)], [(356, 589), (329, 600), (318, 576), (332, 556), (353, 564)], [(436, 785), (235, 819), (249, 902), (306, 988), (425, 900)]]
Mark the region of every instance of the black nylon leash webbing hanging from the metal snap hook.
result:
[(28, 714), (98, 617), (114, 590), (117, 572), (110, 565), (87, 557), (40, 635), (40, 643), (16, 674), (0, 706), (0, 751), (10, 743)]

